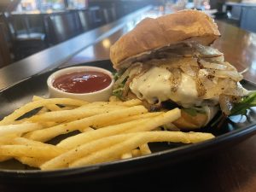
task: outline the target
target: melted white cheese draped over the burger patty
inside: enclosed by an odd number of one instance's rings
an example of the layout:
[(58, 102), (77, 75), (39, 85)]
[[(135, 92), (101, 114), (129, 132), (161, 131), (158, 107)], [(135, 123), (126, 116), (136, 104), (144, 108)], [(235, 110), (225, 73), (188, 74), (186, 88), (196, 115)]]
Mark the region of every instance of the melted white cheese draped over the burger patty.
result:
[(142, 76), (131, 81), (130, 89), (139, 98), (153, 104), (171, 99), (183, 108), (195, 106), (201, 102), (195, 87), (195, 80), (182, 73), (182, 80), (177, 90), (172, 92), (170, 77), (172, 73), (165, 67), (152, 67)]

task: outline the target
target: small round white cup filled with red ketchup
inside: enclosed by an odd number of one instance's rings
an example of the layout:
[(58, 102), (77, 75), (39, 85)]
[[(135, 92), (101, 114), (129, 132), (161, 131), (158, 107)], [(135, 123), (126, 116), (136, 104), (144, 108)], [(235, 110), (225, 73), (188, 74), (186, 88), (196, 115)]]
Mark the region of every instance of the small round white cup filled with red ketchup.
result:
[(47, 85), (50, 97), (105, 102), (112, 95), (113, 75), (100, 67), (67, 67), (52, 73)]

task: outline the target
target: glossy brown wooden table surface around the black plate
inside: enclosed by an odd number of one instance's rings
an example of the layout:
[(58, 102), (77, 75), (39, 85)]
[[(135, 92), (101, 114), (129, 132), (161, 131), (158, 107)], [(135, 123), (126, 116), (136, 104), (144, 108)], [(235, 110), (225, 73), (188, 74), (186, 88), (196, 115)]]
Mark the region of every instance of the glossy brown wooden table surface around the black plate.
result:
[[(160, 14), (159, 12), (149, 11), (143, 15), (130, 18), (129, 21), (125, 20), (125, 25), (108, 33), (101, 39), (97, 38), (94, 44), (82, 49), (78, 54), (69, 55), (68, 57), (63, 56), (58, 63), (41, 67), (40, 70), (108, 59), (111, 44), (125, 32), (131, 30), (138, 20), (141, 20), (145, 15), (155, 16)], [(222, 37), (213, 46), (224, 52), (226, 61), (230, 61), (239, 71), (248, 68), (247, 73), (244, 73), (244, 78), (256, 82), (256, 34), (245, 32), (223, 22), (218, 22), (218, 28)], [(36, 59), (34, 57), (34, 60)], [(44, 59), (41, 62), (44, 62)], [(20, 68), (26, 67), (22, 66)], [(38, 68), (35, 68), (32, 73), (38, 73)], [(22, 73), (21, 69), (20, 73)], [(0, 70), (0, 73), (3, 73), (4, 70), (9, 72), (9, 69), (5, 68)], [(24, 78), (24, 76), (22, 77)], [(3, 81), (2, 76), (0, 77), (0, 83), (1, 79), (2, 89), (4, 86), (14, 83), (14, 81), (9, 80)], [(0, 191), (10, 191), (11, 189), (13, 188), (10, 188), (10, 186), (0, 186)], [(85, 186), (83, 183), (79, 183), (65, 189), (61, 188), (60, 185), (46, 188), (49, 191), (52, 191), (52, 189), (56, 189), (56, 191), (80, 189), (81, 191), (253, 192), (256, 191), (256, 136), (247, 138), (247, 140), (234, 146), (222, 148), (207, 156), (183, 161), (174, 166), (160, 167), (159, 169), (138, 172), (132, 175), (128, 174), (124, 177), (109, 178), (101, 182), (86, 183)], [(38, 191), (39, 189), (37, 186), (33, 186), (32, 190)]]

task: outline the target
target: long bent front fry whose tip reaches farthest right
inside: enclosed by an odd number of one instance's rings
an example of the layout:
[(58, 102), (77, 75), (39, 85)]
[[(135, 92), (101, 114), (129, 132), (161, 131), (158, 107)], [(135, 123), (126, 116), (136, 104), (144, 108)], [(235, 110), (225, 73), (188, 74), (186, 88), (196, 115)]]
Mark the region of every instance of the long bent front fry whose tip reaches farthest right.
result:
[[(130, 134), (131, 135), (131, 134)], [(119, 135), (119, 137), (122, 137)], [(199, 143), (213, 138), (210, 133), (181, 132), (181, 131), (144, 131), (134, 134), (123, 143), (114, 144), (108, 148), (96, 151), (84, 158), (74, 161), (69, 167), (88, 166), (110, 160), (118, 160), (121, 154), (130, 152), (143, 143), (151, 142), (173, 142), (173, 143)]]

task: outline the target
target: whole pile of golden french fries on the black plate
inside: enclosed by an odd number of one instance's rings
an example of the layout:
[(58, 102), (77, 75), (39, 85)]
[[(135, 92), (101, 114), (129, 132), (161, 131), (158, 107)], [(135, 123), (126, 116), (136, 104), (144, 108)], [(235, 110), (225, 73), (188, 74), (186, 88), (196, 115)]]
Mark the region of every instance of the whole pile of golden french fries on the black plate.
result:
[[(37, 113), (28, 116), (34, 110)], [(0, 161), (15, 159), (41, 170), (90, 166), (151, 154), (148, 143), (199, 143), (210, 133), (161, 131), (178, 108), (148, 113), (140, 100), (84, 102), (34, 96), (0, 121)], [(69, 132), (79, 131), (70, 136)], [(55, 145), (50, 140), (67, 136)]]

